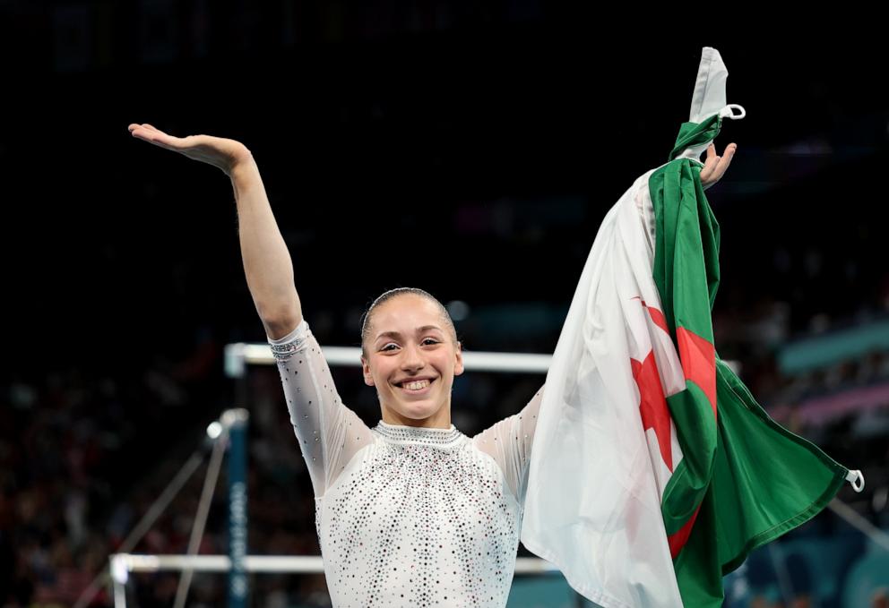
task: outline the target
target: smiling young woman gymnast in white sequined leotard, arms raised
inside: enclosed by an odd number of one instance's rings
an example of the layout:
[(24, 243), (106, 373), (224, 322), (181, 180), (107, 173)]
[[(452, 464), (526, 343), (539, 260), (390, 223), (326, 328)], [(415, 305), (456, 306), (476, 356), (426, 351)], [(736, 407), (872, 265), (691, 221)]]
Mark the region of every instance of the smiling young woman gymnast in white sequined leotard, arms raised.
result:
[[(303, 319), (293, 267), (254, 158), (233, 140), (130, 133), (219, 167), (231, 178), (247, 285), (278, 361), (290, 421), (315, 489), (315, 525), (333, 605), (504, 606), (514, 573), (542, 389), (474, 437), (451, 424), (461, 344), (445, 307), (418, 288), (376, 299), (361, 363), (382, 420), (346, 407)], [(734, 154), (714, 147), (701, 171), (720, 179)]]

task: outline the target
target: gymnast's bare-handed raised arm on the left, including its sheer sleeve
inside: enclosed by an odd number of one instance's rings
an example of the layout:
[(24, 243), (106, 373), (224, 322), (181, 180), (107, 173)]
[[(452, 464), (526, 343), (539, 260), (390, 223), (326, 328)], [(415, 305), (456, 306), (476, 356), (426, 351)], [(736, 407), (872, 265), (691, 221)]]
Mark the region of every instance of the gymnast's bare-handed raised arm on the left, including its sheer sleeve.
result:
[(315, 495), (324, 495), (373, 437), (342, 404), (321, 347), (303, 320), (290, 254), (253, 155), (239, 141), (221, 137), (174, 137), (151, 124), (130, 124), (129, 130), (138, 139), (217, 167), (231, 179), (247, 287), (272, 344)]

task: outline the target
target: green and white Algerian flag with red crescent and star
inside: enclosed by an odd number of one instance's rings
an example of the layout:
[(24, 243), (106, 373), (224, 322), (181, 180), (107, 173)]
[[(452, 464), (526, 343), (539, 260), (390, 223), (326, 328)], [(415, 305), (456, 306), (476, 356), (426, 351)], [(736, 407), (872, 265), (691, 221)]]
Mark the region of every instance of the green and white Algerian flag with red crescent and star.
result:
[(704, 48), (670, 161), (602, 221), (540, 406), (522, 544), (607, 608), (721, 605), (723, 575), (858, 474), (775, 424), (713, 346), (719, 226), (697, 158), (744, 116), (727, 75)]

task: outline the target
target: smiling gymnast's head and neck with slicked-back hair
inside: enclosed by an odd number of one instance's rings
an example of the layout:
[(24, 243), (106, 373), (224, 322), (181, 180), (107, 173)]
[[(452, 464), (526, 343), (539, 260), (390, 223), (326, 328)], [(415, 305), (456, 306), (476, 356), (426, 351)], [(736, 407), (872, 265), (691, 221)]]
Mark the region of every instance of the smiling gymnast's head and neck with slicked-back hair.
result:
[(407, 293), (377, 305), (364, 349), (365, 383), (376, 387), (385, 423), (450, 428), (463, 359), (436, 303)]

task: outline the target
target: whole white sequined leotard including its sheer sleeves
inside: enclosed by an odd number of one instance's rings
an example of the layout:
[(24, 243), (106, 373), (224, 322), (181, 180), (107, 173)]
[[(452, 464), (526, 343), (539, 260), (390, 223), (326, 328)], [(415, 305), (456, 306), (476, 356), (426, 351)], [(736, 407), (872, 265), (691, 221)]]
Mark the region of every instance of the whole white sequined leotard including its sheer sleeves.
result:
[(505, 606), (540, 393), (471, 439), (453, 424), (368, 429), (341, 404), (305, 321), (270, 342), (286, 346), (276, 358), (333, 605)]

